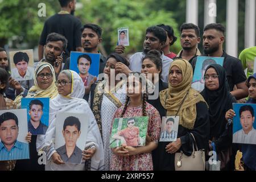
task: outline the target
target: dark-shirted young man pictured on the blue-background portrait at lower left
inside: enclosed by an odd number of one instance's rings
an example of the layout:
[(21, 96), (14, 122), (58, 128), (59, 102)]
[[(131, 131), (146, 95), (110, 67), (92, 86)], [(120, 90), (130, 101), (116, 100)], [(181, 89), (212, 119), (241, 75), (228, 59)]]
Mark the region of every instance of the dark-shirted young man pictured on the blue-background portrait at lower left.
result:
[(32, 135), (46, 134), (48, 126), (41, 122), (43, 108), (43, 102), (40, 100), (32, 100), (29, 104), (30, 110), (28, 111), (28, 114), (30, 115), (30, 118), (28, 119), (28, 131), (30, 131)]

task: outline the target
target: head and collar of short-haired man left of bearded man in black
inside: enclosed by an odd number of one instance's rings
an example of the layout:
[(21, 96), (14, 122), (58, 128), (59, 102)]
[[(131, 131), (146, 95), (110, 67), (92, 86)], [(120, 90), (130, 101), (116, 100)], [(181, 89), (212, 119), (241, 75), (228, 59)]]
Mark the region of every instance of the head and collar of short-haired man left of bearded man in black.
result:
[(180, 27), (180, 44), (182, 49), (175, 59), (185, 59), (191, 63), (194, 57), (201, 55), (199, 49), (197, 49), (197, 44), (200, 41), (199, 27), (193, 23), (183, 23)]

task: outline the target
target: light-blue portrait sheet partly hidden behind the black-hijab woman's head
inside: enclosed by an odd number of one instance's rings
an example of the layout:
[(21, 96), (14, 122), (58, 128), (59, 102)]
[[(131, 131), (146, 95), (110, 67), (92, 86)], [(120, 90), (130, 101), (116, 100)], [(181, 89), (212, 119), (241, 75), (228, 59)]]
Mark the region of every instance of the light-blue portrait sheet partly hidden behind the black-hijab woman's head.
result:
[(210, 64), (223, 65), (224, 57), (197, 56), (191, 87), (199, 92), (204, 90), (204, 73)]

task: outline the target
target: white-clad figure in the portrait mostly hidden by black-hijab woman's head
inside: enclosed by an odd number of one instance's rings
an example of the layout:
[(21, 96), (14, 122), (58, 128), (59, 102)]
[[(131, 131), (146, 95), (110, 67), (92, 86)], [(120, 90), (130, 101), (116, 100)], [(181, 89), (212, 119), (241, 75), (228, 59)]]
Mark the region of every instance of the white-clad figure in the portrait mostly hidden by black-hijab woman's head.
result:
[(206, 59), (204, 60), (202, 67), (200, 69), (201, 71), (201, 77), (200, 80), (196, 80), (194, 82), (192, 82), (191, 87), (199, 92), (201, 92), (204, 89), (204, 74), (205, 74), (205, 70), (207, 69), (207, 67), (210, 64), (216, 64), (216, 61), (213, 59)]

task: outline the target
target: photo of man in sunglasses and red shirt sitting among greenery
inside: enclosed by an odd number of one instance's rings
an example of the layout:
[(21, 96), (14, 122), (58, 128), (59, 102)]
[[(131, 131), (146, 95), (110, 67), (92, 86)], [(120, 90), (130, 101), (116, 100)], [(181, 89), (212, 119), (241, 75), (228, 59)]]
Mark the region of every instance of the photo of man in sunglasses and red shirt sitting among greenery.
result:
[(148, 117), (115, 118), (110, 135), (110, 147), (144, 146), (146, 144)]

